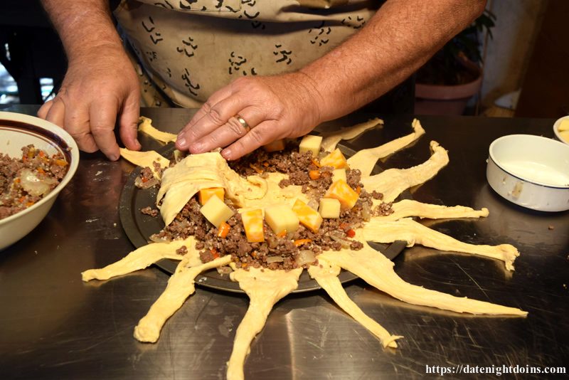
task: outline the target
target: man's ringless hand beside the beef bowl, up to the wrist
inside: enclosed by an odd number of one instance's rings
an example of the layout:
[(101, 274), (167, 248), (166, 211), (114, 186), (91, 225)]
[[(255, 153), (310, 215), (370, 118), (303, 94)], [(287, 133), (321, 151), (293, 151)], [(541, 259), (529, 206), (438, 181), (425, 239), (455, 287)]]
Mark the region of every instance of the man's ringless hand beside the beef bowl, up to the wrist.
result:
[(140, 149), (139, 97), (136, 73), (122, 48), (100, 47), (70, 60), (59, 93), (40, 108), (38, 116), (67, 130), (81, 150), (101, 149), (115, 161), (117, 123), (124, 145)]

